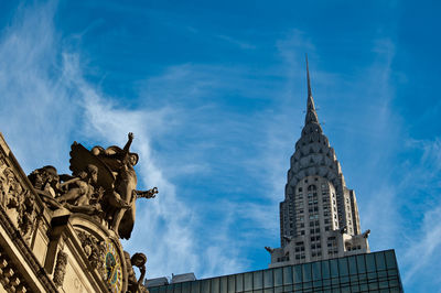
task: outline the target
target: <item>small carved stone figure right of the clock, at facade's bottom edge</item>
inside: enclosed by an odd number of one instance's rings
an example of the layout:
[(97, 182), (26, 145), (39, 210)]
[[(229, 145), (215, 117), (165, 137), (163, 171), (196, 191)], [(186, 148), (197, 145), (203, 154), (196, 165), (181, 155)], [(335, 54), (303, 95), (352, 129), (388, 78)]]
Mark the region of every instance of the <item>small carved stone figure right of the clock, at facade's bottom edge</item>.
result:
[[(125, 251), (127, 265), (127, 275), (129, 280), (128, 292), (130, 293), (144, 293), (148, 290), (142, 285), (146, 276), (146, 262), (147, 257), (143, 253), (137, 252), (130, 258), (130, 253)], [(140, 276), (137, 280), (135, 275), (133, 267), (137, 267), (140, 271)]]

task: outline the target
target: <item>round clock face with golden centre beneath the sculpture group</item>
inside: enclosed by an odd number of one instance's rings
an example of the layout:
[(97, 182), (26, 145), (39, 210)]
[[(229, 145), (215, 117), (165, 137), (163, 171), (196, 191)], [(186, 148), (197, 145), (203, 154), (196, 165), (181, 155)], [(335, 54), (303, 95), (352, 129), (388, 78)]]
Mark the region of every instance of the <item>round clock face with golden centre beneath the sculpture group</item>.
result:
[(122, 291), (122, 268), (118, 250), (110, 241), (106, 241), (106, 252), (104, 256), (105, 280), (110, 285), (111, 292)]

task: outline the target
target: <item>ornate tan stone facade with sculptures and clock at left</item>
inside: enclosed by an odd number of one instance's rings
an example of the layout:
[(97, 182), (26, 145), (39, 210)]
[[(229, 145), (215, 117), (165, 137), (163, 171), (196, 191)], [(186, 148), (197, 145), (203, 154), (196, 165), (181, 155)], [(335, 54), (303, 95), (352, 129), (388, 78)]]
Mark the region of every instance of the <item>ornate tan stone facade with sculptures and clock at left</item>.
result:
[(158, 193), (136, 189), (132, 140), (90, 151), (74, 142), (72, 174), (44, 166), (26, 176), (0, 133), (0, 292), (147, 292), (147, 258), (127, 260), (119, 240), (136, 199)]

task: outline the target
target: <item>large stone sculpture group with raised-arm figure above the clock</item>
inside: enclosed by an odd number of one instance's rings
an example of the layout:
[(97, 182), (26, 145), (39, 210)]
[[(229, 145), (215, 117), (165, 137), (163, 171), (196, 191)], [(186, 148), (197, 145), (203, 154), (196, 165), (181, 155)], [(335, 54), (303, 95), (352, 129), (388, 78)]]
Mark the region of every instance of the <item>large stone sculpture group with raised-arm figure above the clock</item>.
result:
[(135, 224), (136, 199), (153, 198), (158, 188), (137, 191), (137, 153), (130, 152), (133, 133), (126, 145), (90, 151), (74, 142), (71, 146), (72, 175), (58, 175), (54, 166), (44, 166), (28, 177), (51, 209), (67, 208), (107, 223), (120, 238), (129, 239)]

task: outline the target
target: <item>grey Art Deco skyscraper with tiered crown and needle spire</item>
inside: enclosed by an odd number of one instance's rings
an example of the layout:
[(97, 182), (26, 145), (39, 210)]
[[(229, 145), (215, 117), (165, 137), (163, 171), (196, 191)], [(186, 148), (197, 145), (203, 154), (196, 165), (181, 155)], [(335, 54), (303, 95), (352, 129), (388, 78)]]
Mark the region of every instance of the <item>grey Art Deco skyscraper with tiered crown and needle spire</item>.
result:
[(280, 203), (281, 248), (266, 248), (271, 253), (270, 268), (369, 252), (369, 230), (361, 231), (355, 192), (346, 187), (335, 151), (319, 122), (308, 58), (306, 76), (304, 127)]

